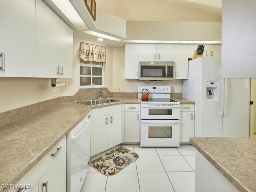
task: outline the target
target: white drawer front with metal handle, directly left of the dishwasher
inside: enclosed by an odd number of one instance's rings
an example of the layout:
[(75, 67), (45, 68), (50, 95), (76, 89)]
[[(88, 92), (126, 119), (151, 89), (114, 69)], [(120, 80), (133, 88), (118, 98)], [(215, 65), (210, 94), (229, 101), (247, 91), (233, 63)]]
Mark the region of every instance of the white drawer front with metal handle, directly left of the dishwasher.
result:
[[(58, 149), (57, 148), (61, 148)], [(39, 162), (39, 179), (44, 175), (44, 173), (50, 168), (50, 166), (58, 159), (62, 152), (66, 151), (66, 136), (56, 144)], [(54, 157), (55, 155), (55, 157)]]

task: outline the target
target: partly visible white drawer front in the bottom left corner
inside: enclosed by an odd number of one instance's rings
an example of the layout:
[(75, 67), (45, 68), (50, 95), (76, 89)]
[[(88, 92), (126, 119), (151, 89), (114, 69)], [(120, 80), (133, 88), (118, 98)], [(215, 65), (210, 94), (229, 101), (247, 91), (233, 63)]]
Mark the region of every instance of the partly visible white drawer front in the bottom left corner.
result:
[[(38, 164), (30, 169), (8, 192), (17, 192), (18, 188), (26, 188), (24, 191), (31, 191), (38, 182)], [(23, 191), (23, 190), (22, 190)], [(37, 189), (38, 191), (38, 189)]]

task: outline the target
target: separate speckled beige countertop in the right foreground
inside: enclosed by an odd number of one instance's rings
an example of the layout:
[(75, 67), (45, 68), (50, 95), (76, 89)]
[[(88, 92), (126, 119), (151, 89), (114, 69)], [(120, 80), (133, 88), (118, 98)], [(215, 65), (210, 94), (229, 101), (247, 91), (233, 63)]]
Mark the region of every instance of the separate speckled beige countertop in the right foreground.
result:
[(190, 138), (239, 191), (256, 192), (256, 138)]

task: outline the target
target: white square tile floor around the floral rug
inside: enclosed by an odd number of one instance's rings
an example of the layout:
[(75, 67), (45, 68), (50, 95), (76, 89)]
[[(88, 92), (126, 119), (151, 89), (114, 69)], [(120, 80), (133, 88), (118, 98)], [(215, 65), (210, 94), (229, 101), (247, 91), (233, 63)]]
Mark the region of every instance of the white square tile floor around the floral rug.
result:
[(122, 146), (136, 152), (139, 159), (113, 176), (104, 176), (89, 166), (80, 192), (195, 191), (196, 152), (192, 145), (173, 148)]

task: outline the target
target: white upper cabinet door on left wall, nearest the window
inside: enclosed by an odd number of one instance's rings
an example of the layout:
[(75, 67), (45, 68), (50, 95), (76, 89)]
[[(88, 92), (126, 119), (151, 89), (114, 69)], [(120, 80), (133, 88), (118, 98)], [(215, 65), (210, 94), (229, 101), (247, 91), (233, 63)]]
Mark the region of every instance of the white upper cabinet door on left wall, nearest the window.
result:
[(59, 32), (59, 63), (60, 78), (73, 76), (73, 30), (60, 19)]

